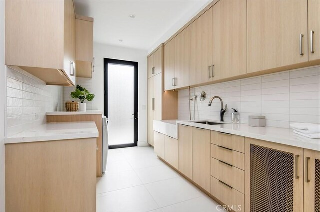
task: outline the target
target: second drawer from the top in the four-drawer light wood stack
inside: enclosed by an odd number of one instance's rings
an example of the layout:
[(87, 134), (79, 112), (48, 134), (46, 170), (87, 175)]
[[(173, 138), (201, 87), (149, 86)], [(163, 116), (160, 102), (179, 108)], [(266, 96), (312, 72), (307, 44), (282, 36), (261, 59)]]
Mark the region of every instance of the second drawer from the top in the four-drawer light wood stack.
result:
[(244, 153), (211, 144), (211, 157), (244, 170)]

